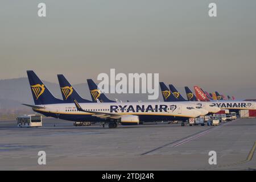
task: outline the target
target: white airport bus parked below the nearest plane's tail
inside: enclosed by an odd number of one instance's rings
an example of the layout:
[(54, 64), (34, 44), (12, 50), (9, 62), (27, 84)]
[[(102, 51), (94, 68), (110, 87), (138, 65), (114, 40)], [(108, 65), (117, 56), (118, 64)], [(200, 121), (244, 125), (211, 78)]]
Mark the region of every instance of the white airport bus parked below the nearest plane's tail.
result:
[(39, 127), (42, 126), (42, 115), (20, 115), (17, 117), (18, 127)]

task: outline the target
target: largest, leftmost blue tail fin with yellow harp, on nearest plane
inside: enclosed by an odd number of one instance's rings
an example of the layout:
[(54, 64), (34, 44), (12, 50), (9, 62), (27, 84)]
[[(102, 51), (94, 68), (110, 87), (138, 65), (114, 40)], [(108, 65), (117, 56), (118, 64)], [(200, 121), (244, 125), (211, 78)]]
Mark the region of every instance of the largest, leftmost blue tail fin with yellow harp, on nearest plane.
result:
[(34, 71), (27, 71), (27, 76), (35, 105), (64, 103), (63, 100), (59, 100), (49, 92), (46, 85), (36, 76)]

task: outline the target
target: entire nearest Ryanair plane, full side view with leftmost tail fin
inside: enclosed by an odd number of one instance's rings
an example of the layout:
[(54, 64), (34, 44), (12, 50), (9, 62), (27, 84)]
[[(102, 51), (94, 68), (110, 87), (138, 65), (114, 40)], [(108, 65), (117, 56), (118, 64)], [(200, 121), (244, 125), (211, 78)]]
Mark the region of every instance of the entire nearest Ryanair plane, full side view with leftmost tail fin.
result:
[[(27, 71), (28, 80), (35, 105), (32, 107), (37, 113), (46, 117), (60, 118), (68, 121), (106, 122), (110, 128), (117, 127), (117, 123), (134, 124), (151, 121), (186, 121), (201, 115), (199, 111), (188, 104), (178, 102), (87, 102), (73, 103), (59, 100), (52, 95), (47, 86), (33, 71)], [(65, 98), (68, 93), (64, 94)]]

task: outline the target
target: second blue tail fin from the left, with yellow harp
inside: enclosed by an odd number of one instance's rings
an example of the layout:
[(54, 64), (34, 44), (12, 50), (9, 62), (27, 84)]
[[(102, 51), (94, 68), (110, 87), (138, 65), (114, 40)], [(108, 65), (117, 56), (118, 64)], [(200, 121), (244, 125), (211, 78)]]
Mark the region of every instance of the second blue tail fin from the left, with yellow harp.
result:
[(59, 80), (60, 91), (64, 101), (73, 103), (74, 102), (73, 100), (75, 99), (77, 102), (81, 102), (81, 103), (92, 102), (82, 98), (79, 95), (79, 93), (77, 93), (76, 90), (73, 88), (73, 86), (68, 82), (68, 80), (64, 77), (64, 75), (57, 75), (57, 77)]

